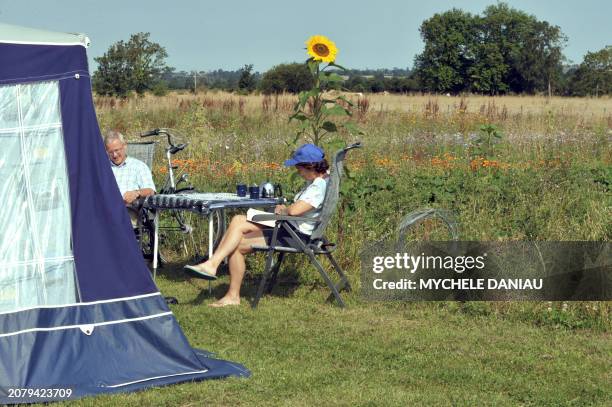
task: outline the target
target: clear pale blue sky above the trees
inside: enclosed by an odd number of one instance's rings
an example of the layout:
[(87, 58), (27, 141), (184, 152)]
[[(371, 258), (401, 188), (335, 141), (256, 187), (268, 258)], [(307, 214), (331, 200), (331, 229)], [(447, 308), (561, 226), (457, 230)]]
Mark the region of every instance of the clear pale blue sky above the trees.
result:
[[(508, 0), (511, 7), (561, 27), (565, 56), (612, 45), (612, 1)], [(177, 70), (237, 70), (306, 60), (305, 41), (326, 35), (336, 62), (353, 69), (411, 68), (423, 49), (419, 26), (435, 13), (481, 13), (494, 0), (0, 0), (0, 22), (85, 33), (88, 55), (101, 56), (131, 34), (150, 32)]]

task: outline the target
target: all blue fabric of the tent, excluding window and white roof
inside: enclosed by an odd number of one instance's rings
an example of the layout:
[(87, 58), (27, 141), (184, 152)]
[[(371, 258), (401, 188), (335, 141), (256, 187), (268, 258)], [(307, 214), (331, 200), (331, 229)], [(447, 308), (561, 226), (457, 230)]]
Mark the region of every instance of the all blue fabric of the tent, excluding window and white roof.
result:
[(0, 404), (66, 395), (11, 389), (70, 389), (74, 398), (249, 376), (193, 349), (158, 292), (104, 150), (85, 48), (0, 43), (0, 60), (0, 86), (59, 83), (79, 295), (74, 304), (0, 313)]

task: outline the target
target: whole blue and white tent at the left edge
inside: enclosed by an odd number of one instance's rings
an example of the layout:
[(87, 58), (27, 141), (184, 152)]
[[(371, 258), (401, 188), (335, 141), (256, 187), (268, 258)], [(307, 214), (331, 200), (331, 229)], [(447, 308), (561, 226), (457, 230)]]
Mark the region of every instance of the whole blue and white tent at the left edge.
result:
[(249, 374), (191, 348), (151, 279), (100, 137), (88, 45), (0, 24), (0, 403)]

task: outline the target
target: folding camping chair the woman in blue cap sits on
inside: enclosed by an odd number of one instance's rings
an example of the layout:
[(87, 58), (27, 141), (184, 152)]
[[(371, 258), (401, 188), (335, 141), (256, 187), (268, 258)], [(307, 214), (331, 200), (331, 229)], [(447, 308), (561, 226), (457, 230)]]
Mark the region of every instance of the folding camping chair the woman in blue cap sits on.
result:
[[(255, 299), (253, 300), (252, 307), (256, 308), (259, 303), (259, 299), (263, 295), (264, 289), (266, 289), (266, 282), (268, 282), (267, 290), (268, 292), (272, 291), (272, 287), (276, 283), (276, 277), (280, 270), (281, 263), (285, 257), (285, 254), (288, 253), (303, 253), (308, 256), (308, 259), (312, 263), (312, 265), (317, 269), (325, 283), (331, 290), (331, 294), (328, 299), (331, 299), (332, 296), (335, 297), (338, 305), (341, 307), (345, 306), (342, 297), (340, 297), (340, 291), (343, 289), (350, 290), (350, 284), (348, 282), (348, 278), (332, 256), (332, 252), (336, 249), (335, 243), (330, 243), (325, 236), (323, 235), (325, 232), (325, 228), (329, 224), (333, 213), (336, 210), (336, 206), (338, 203), (338, 197), (340, 194), (340, 180), (343, 174), (344, 168), (344, 158), (346, 156), (347, 151), (353, 148), (360, 148), (361, 143), (352, 144), (342, 150), (339, 150), (335, 157), (332, 159), (331, 170), (329, 173), (329, 181), (327, 184), (327, 190), (325, 192), (325, 198), (323, 200), (323, 208), (321, 210), (321, 215), (316, 218), (301, 218), (297, 216), (285, 216), (285, 215), (256, 215), (253, 217), (253, 221), (265, 221), (265, 220), (276, 220), (276, 225), (274, 227), (274, 231), (272, 233), (271, 243), (268, 246), (253, 246), (253, 250), (255, 251), (263, 251), (267, 252), (266, 266), (259, 283), (259, 288), (257, 290), (257, 294)], [(310, 235), (310, 240), (303, 241), (300, 239), (290, 225), (289, 221), (313, 221), (316, 223), (315, 229)], [(277, 234), (280, 228), (284, 228), (290, 236), (293, 238), (293, 242), (295, 244), (293, 246), (279, 246), (277, 245)], [(277, 259), (274, 261), (274, 254), (277, 253)], [(317, 256), (324, 255), (327, 257), (332, 267), (340, 276), (340, 281), (337, 284), (334, 284), (329, 274), (325, 271)]]

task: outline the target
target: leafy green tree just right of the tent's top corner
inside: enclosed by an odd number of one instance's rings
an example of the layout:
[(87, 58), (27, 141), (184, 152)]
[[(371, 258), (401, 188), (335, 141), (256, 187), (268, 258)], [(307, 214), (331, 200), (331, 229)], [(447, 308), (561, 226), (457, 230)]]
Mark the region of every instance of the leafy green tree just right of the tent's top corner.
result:
[(94, 58), (98, 69), (93, 87), (98, 94), (121, 97), (130, 91), (143, 94), (172, 71), (165, 63), (168, 56), (165, 48), (149, 37), (150, 33), (133, 34), (128, 42), (116, 42), (104, 55)]

